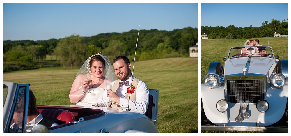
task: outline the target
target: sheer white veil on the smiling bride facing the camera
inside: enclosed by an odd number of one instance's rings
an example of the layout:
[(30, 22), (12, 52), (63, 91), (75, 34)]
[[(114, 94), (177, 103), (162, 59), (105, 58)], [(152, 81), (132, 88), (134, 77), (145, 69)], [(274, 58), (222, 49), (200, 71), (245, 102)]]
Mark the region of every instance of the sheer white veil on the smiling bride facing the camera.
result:
[[(91, 71), (90, 71), (90, 60), (93, 56), (95, 55), (99, 55), (101, 56), (104, 60), (105, 60), (105, 70), (104, 70), (104, 77), (105, 77), (105, 80), (107, 79), (110, 79), (112, 81), (115, 81), (117, 80), (116, 78), (116, 75), (115, 75), (115, 72), (113, 71), (113, 68), (111, 66), (111, 63), (109, 61), (109, 59), (107, 58), (107, 56), (103, 56), (103, 54), (93, 54), (92, 56), (90, 56), (85, 62), (84, 64), (82, 65), (82, 67), (80, 68), (79, 72), (77, 73), (76, 77), (80, 74), (92, 74)], [(75, 78), (76, 78), (75, 77)], [(104, 82), (105, 83), (105, 82)]]

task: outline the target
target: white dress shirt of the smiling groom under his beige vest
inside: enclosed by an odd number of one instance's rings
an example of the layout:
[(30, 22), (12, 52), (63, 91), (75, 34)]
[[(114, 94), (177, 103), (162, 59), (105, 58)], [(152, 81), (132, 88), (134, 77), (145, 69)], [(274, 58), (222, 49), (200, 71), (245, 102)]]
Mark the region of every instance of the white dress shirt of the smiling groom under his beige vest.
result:
[[(117, 81), (118, 80), (113, 81), (112, 86)], [(128, 81), (128, 86), (123, 85), (121, 88), (118, 87), (117, 89), (117, 95), (120, 97), (119, 105), (125, 108), (127, 108), (128, 106), (128, 99), (124, 98), (124, 96), (128, 95), (127, 87), (130, 86), (132, 77), (130, 76), (126, 81)], [(148, 99), (149, 99), (148, 95), (149, 95), (148, 86), (140, 80), (136, 86), (136, 101), (132, 101), (132, 100), (129, 101), (129, 109), (145, 114), (146, 110), (148, 109)], [(109, 106), (107, 105), (108, 101), (109, 101), (109, 98), (107, 97), (107, 91), (105, 90), (101, 94), (101, 96), (99, 97), (96, 103), (99, 104), (101, 107), (108, 107)]]

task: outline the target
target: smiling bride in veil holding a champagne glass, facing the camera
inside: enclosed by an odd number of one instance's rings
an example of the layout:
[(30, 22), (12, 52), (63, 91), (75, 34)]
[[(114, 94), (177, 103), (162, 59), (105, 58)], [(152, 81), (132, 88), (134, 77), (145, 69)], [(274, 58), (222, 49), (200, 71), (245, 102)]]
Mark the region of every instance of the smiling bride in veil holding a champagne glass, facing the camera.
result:
[[(90, 75), (91, 82), (87, 81), (86, 74)], [(115, 80), (116, 76), (107, 56), (94, 54), (84, 62), (77, 73), (70, 91), (70, 101), (76, 105), (91, 106), (105, 91), (106, 83)]]

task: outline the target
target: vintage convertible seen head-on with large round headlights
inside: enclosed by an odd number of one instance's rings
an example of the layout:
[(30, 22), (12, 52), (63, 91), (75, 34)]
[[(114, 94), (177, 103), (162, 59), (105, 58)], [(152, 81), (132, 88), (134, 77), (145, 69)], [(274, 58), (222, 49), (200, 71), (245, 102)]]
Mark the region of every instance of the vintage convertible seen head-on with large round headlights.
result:
[[(288, 133), (288, 60), (270, 46), (231, 47), (201, 86), (202, 130)], [(259, 53), (252, 53), (254, 47)]]

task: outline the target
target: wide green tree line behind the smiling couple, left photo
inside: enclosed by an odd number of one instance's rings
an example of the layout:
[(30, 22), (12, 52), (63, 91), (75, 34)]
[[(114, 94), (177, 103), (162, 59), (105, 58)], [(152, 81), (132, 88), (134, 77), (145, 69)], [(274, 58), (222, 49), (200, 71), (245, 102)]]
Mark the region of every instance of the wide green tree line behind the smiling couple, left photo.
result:
[[(37, 68), (33, 62), (55, 56), (64, 68), (81, 66), (92, 54), (102, 53), (109, 60), (127, 56), (134, 60), (138, 30), (102, 33), (91, 37), (76, 34), (49, 40), (3, 41), (3, 71)], [(198, 42), (198, 29), (140, 30), (136, 61), (168, 57), (189, 57), (189, 47)], [(112, 62), (111, 62), (112, 63)]]

